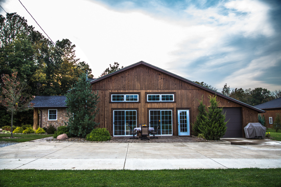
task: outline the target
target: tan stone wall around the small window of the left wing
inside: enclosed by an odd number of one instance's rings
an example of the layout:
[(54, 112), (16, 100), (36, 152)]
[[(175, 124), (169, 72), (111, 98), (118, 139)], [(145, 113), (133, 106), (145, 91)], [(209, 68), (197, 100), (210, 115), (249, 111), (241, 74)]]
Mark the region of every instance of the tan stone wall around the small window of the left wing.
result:
[[(57, 109), (57, 121), (48, 121), (49, 109)], [(40, 110), (42, 111), (42, 127), (49, 127), (50, 125), (53, 125), (54, 127), (58, 128), (59, 126), (64, 125), (64, 122), (68, 122), (68, 117), (66, 117), (66, 108), (48, 108)], [(41, 119), (40, 115), (39, 120)]]

